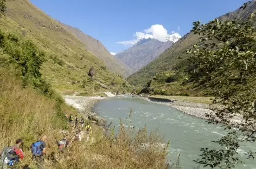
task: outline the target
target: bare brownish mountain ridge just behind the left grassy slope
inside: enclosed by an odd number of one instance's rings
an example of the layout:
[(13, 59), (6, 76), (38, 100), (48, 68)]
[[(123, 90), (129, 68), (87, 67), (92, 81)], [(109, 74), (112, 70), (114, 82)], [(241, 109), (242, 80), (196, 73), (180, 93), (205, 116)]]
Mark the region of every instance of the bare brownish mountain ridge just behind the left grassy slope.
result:
[(99, 59), (101, 59), (106, 67), (112, 72), (120, 74), (123, 77), (127, 77), (130, 74), (130, 68), (127, 67), (123, 61), (111, 55), (99, 40), (84, 34), (84, 32), (78, 28), (74, 28), (61, 22), (60, 24), (71, 31), (72, 34), (74, 34), (81, 42), (83, 42), (85, 44), (85, 48), (91, 51), (95, 56), (99, 57)]

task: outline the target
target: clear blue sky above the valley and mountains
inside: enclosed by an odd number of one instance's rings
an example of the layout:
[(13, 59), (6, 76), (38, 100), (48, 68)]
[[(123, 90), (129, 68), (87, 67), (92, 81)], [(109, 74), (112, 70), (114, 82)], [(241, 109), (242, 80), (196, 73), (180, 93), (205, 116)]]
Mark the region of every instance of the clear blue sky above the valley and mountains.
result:
[[(117, 53), (131, 45), (140, 36), (153, 30), (174, 31), (183, 36), (197, 20), (208, 22), (234, 11), (245, 0), (30, 0), (53, 18), (79, 28), (85, 34), (100, 40), (111, 52)], [(151, 27), (158, 24), (158, 27)], [(178, 28), (179, 27), (179, 28)], [(156, 28), (156, 29), (149, 29)], [(164, 30), (163, 30), (164, 28)], [(143, 32), (148, 29), (148, 33)], [(162, 33), (161, 32), (161, 33)], [(160, 33), (159, 33), (160, 34)]]

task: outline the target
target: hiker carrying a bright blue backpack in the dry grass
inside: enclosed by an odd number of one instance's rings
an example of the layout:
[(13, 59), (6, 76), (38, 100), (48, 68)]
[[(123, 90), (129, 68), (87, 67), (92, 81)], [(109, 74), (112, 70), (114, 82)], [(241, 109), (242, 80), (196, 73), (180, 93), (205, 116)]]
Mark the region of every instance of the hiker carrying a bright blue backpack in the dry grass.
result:
[(44, 135), (41, 140), (31, 144), (32, 160), (37, 162), (40, 168), (43, 168), (43, 155), (46, 154), (46, 140), (47, 137)]

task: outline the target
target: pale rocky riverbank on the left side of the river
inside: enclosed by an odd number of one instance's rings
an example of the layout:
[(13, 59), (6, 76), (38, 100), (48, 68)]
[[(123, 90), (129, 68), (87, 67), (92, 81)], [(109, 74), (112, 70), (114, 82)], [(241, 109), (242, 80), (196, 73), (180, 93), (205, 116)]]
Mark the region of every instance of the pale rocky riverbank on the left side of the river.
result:
[(78, 111), (84, 115), (85, 119), (93, 120), (97, 123), (99, 126), (105, 126), (106, 125), (106, 119), (102, 118), (97, 115), (97, 113), (92, 112), (92, 108), (94, 105), (102, 100), (107, 98), (101, 98), (99, 96), (95, 97), (85, 97), (85, 96), (63, 96), (66, 103), (68, 105), (73, 106), (74, 108), (78, 109)]

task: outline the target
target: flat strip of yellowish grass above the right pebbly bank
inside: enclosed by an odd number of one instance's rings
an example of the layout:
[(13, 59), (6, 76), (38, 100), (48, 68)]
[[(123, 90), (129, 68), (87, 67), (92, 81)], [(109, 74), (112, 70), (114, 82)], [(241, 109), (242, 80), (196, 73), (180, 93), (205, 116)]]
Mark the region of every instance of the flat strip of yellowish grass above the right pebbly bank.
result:
[(188, 102), (195, 103), (212, 103), (210, 99), (214, 99), (213, 97), (191, 97), (191, 96), (163, 96), (163, 95), (152, 95), (155, 98), (164, 98), (164, 99), (175, 99), (175, 100), (183, 100)]

